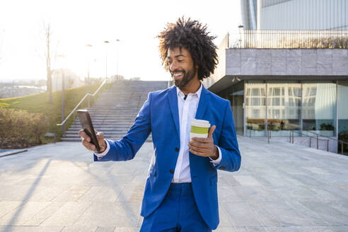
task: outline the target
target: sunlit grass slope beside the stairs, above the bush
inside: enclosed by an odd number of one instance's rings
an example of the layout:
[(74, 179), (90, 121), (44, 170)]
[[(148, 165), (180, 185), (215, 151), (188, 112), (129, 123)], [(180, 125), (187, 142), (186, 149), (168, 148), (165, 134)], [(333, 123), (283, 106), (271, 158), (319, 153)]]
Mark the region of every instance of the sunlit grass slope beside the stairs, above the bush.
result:
[[(90, 97), (91, 106), (94, 100), (98, 98), (98, 95), (103, 92), (105, 88), (110, 88), (112, 84), (105, 83), (95, 98)], [(90, 86), (90, 93), (94, 93), (100, 83), (96, 83)], [(64, 91), (64, 118), (69, 115), (71, 110), (79, 103), (87, 93), (87, 86), (81, 86), (78, 88), (69, 88)], [(87, 98), (83, 101), (80, 108), (87, 107)], [(47, 128), (47, 132), (57, 132), (57, 140), (62, 137), (62, 127), (57, 128), (56, 124), (62, 123), (62, 91), (54, 91), (52, 93), (52, 103), (49, 103), (48, 93), (37, 93), (33, 95), (25, 95), (17, 98), (2, 98), (0, 99), (0, 108), (12, 108), (17, 110), (27, 110), (28, 112), (40, 112), (50, 118), (50, 127)], [(73, 117), (70, 117), (66, 122), (65, 128), (73, 122)], [(52, 138), (42, 138), (43, 143), (50, 143)]]

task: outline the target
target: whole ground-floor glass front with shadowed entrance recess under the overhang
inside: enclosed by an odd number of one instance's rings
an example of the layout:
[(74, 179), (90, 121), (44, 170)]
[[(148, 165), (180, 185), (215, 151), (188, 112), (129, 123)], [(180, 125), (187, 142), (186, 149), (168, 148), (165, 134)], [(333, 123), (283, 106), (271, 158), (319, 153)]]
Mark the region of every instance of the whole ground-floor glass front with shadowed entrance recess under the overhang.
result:
[[(294, 136), (348, 142), (348, 81), (240, 81), (219, 95), (230, 100), (239, 135), (264, 137), (271, 131), (272, 137), (289, 137), (294, 130)], [(338, 152), (348, 154), (348, 144), (341, 145)]]

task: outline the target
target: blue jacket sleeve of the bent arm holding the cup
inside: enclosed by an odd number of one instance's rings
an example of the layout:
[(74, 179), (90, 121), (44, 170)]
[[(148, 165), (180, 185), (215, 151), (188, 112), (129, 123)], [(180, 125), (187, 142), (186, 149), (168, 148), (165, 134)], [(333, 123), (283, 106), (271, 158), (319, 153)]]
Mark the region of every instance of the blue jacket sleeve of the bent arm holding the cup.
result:
[(221, 149), (222, 159), (217, 165), (211, 163), (211, 166), (220, 170), (230, 172), (239, 170), (240, 168), (240, 151), (238, 149), (238, 141), (236, 129), (234, 127), (232, 110), (229, 102), (226, 104), (224, 121), (222, 124), (221, 135), (218, 146)]

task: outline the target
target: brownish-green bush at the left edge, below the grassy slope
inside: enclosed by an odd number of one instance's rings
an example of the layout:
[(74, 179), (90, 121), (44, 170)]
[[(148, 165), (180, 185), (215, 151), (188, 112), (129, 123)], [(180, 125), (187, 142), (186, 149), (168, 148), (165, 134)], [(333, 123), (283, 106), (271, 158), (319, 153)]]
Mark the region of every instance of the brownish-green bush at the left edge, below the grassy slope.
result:
[(42, 144), (50, 120), (42, 113), (0, 108), (0, 148), (20, 149)]

